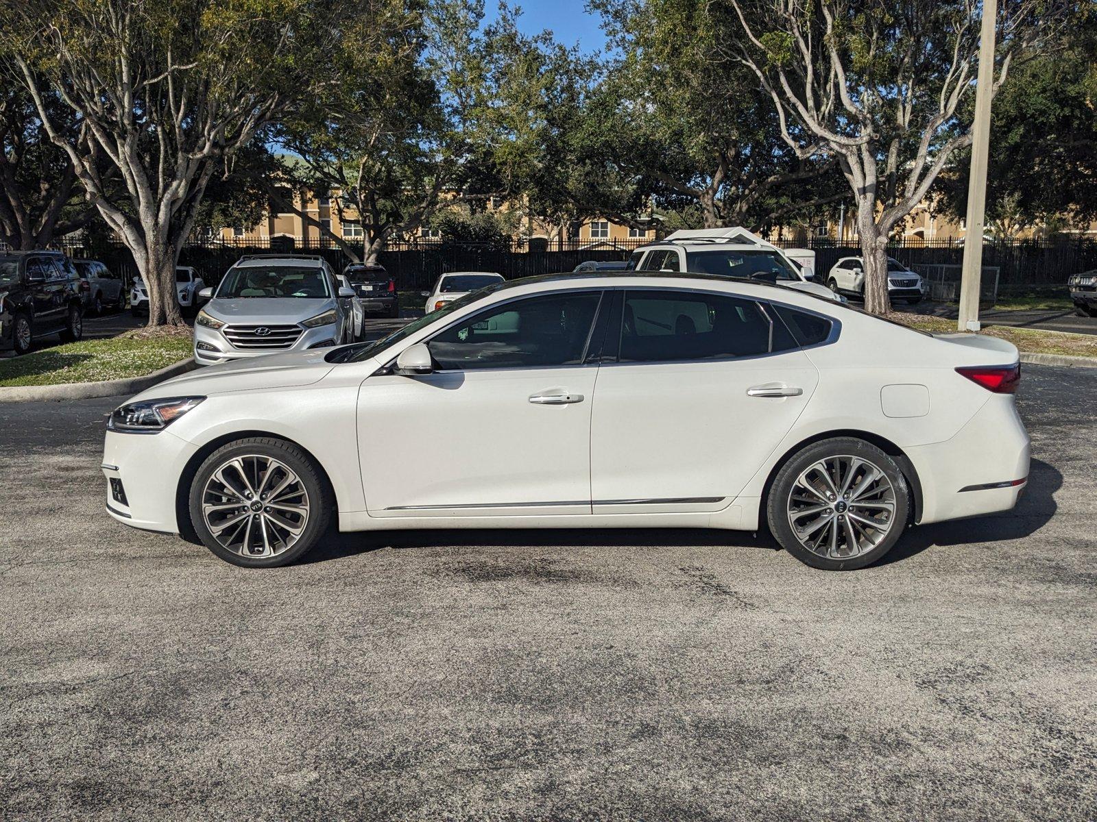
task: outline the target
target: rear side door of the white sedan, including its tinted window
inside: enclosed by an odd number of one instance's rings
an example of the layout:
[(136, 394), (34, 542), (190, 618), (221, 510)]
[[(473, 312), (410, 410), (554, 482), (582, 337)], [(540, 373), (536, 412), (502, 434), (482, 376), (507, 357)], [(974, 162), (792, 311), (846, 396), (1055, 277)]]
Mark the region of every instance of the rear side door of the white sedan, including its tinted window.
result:
[(593, 513), (726, 507), (817, 381), (780, 318), (757, 301), (690, 289), (623, 292), (591, 416)]

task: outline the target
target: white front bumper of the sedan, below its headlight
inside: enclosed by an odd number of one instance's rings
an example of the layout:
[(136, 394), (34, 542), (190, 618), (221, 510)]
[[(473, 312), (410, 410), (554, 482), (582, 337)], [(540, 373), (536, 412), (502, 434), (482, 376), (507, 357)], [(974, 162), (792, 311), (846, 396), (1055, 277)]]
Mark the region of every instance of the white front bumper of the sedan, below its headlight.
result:
[[(173, 436), (106, 432), (102, 471), (106, 482), (106, 512), (124, 525), (178, 534), (174, 482), (197, 446)], [(112, 488), (111, 480), (115, 480)], [(118, 494), (118, 486), (123, 493)], [(121, 498), (121, 499), (120, 499)]]

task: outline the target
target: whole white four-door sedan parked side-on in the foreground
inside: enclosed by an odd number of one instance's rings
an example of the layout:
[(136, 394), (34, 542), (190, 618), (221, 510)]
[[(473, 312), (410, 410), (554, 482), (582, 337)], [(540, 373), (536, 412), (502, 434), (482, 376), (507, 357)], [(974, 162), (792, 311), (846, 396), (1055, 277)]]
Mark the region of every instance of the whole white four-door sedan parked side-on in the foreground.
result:
[[(766, 522), (816, 568), (1011, 509), (1017, 350), (800, 290), (561, 274), (373, 343), (176, 377), (110, 418), (106, 507), (279, 566), (340, 530)], [(423, 432), (446, 436), (422, 436)]]

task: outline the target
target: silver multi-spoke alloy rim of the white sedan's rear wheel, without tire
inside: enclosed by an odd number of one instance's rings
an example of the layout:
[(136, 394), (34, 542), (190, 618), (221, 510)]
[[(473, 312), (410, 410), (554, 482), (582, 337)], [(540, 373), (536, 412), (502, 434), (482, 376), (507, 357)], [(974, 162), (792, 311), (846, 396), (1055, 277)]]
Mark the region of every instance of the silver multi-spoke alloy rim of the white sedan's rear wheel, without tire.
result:
[(895, 489), (862, 457), (825, 457), (801, 471), (787, 511), (796, 541), (807, 550), (828, 559), (859, 557), (895, 527)]

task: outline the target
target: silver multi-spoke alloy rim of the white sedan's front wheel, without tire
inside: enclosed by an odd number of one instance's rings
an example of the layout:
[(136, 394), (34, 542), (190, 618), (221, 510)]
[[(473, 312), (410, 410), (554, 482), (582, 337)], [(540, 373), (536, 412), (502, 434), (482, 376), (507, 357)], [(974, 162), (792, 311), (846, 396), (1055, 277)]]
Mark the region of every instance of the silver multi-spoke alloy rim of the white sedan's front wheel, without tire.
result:
[(301, 478), (272, 457), (233, 457), (202, 489), (202, 516), (225, 549), (250, 559), (276, 557), (301, 538), (309, 499)]

